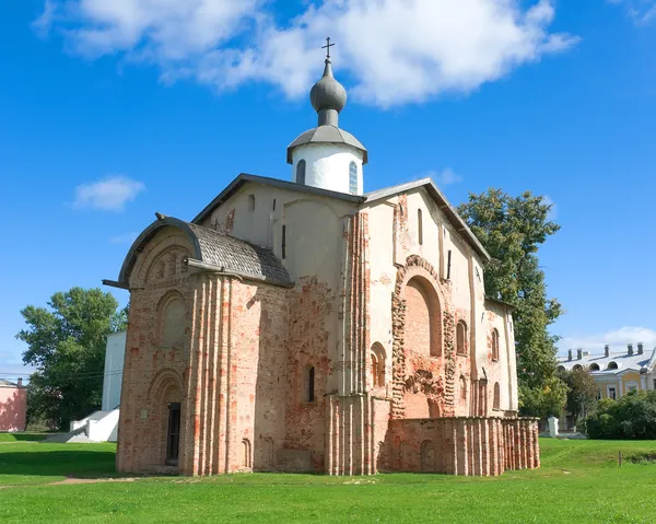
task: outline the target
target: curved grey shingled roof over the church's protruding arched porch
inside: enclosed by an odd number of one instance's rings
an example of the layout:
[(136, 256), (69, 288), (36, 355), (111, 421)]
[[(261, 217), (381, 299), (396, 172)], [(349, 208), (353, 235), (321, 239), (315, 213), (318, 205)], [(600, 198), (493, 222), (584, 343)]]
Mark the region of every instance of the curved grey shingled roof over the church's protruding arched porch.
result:
[(128, 283), (139, 254), (160, 230), (167, 226), (185, 233), (194, 246), (191, 256), (208, 269), (230, 271), (274, 286), (294, 286), (290, 273), (270, 249), (171, 217), (154, 221), (134, 241), (120, 269), (119, 283)]

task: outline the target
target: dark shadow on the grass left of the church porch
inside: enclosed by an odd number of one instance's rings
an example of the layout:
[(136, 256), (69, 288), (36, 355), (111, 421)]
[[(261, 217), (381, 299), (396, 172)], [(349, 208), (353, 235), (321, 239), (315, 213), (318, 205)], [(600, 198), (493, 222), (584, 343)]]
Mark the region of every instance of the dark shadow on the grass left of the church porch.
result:
[[(40, 445), (38, 445), (40, 447)], [(3, 453), (0, 447), (0, 478), (9, 475), (68, 478), (120, 476), (110, 451), (61, 450)], [(1, 484), (1, 480), (0, 480)]]

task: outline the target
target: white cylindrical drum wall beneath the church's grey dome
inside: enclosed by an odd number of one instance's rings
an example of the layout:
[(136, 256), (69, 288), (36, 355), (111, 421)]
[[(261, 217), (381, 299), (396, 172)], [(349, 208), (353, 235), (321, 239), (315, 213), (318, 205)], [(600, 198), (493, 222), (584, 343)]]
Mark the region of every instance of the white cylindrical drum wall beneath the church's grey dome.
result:
[(293, 152), (292, 182), (296, 182), (296, 165), (305, 160), (305, 185), (339, 193), (350, 193), (350, 164), (358, 165), (358, 195), (362, 195), (362, 153), (345, 144), (308, 143)]

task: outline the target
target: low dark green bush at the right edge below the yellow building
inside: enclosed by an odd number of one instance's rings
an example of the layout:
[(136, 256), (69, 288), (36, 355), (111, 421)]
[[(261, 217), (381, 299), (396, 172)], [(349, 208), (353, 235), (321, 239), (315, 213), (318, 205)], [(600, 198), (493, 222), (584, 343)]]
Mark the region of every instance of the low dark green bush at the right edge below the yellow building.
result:
[(631, 392), (619, 400), (599, 400), (583, 429), (589, 439), (656, 439), (656, 392)]

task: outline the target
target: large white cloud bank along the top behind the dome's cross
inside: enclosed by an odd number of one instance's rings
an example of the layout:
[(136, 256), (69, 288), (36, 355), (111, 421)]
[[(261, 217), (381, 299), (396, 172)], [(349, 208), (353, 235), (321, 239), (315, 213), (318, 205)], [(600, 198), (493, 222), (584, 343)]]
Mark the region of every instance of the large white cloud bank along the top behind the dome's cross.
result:
[(329, 34), (335, 66), (364, 103), (393, 106), (469, 92), (578, 38), (550, 33), (553, 0), (318, 0), (284, 25), (271, 0), (57, 0), (67, 44), (120, 55), (219, 91), (268, 82), (305, 96)]

